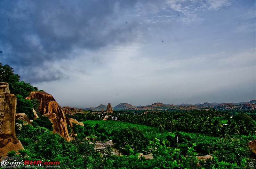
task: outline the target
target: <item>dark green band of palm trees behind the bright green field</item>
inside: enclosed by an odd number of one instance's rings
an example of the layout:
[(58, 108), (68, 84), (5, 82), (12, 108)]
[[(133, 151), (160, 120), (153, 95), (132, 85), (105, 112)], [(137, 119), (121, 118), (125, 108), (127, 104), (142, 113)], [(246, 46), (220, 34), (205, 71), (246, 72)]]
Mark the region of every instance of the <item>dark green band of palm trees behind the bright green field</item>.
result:
[[(196, 132), (210, 136), (229, 137), (230, 135), (255, 135), (256, 125), (247, 114), (242, 113), (242, 119), (237, 122), (230, 118), (228, 111), (172, 111), (148, 112), (147, 114), (123, 113), (118, 120), (135, 124), (154, 126), (161, 131), (165, 129)], [(239, 119), (240, 114), (236, 115)], [(228, 124), (223, 124), (227, 121)]]

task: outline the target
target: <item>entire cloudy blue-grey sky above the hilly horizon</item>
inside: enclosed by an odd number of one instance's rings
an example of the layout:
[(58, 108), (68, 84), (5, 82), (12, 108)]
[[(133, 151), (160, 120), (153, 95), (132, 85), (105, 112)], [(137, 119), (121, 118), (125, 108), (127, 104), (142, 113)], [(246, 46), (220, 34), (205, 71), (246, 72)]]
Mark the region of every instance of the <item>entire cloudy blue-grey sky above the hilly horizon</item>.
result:
[(60, 106), (256, 99), (255, 0), (1, 0), (0, 62)]

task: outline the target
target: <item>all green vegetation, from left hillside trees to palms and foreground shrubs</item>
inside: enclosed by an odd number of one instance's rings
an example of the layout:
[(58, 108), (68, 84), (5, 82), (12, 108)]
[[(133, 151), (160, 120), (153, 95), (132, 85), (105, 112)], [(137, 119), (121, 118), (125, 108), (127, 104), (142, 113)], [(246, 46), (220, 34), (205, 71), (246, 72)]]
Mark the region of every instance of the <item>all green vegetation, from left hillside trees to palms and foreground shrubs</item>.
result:
[[(0, 81), (9, 83), (17, 96), (17, 112), (33, 118), (39, 101), (24, 98), (38, 88), (20, 81), (13, 68), (0, 63)], [(249, 168), (254, 162), (246, 146), (255, 138), (255, 111), (163, 110), (158, 112), (119, 111), (118, 121), (100, 121), (90, 112), (69, 115), (84, 126), (67, 142), (53, 133), (51, 121), (38, 117), (31, 125), (22, 121), (16, 135), (25, 150), (9, 152), (23, 160), (60, 161), (61, 168)], [(233, 117), (233, 118), (231, 118)], [(123, 156), (113, 156), (111, 147), (95, 150), (95, 140), (113, 140)], [(90, 143), (91, 141), (91, 143)], [(138, 157), (148, 151), (153, 159)], [(196, 156), (212, 155), (198, 160)]]

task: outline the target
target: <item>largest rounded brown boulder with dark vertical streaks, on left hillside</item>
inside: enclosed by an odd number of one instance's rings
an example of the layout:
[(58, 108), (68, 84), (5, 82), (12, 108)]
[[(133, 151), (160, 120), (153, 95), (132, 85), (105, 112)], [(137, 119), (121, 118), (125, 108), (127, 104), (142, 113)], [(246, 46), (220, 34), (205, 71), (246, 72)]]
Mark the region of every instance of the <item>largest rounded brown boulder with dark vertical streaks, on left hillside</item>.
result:
[[(49, 117), (49, 120), (52, 122), (53, 131), (60, 134), (67, 141), (71, 141), (73, 139), (72, 136), (75, 135), (72, 124), (53, 96), (46, 92), (36, 91), (31, 92), (26, 99), (32, 98), (40, 101), (38, 113)], [(68, 133), (67, 125), (71, 128), (71, 133)]]

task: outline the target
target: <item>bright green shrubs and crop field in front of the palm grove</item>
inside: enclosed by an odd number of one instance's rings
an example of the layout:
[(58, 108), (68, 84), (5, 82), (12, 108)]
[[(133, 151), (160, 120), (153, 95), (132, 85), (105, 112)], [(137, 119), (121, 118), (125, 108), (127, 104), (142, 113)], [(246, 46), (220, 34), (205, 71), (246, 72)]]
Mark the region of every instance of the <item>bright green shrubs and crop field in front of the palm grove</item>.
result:
[[(250, 152), (246, 143), (254, 136), (239, 136), (233, 138), (218, 138), (200, 133), (170, 132), (160, 129), (132, 124), (121, 121), (84, 121), (84, 127), (76, 125), (76, 132), (87, 131), (91, 141), (101, 139), (99, 134), (105, 134), (106, 139), (120, 139), (131, 135), (131, 131), (139, 135), (137, 142), (132, 138), (125, 138), (130, 144), (126, 144), (128, 155), (112, 156), (111, 148), (95, 150), (94, 144), (87, 140), (66, 142), (59, 135), (43, 127), (23, 125), (17, 134), (25, 151), (20, 154), (10, 152), (10, 157), (20, 157), (28, 160), (60, 161), (61, 168), (170, 168), (181, 166), (182, 168), (248, 168)], [(127, 129), (127, 130), (125, 130)], [(120, 137), (116, 137), (118, 134)], [(130, 133), (130, 134), (129, 134)], [(95, 135), (98, 136), (95, 136)], [(116, 135), (115, 135), (116, 134)], [(136, 137), (136, 134), (134, 137)], [(101, 135), (102, 136), (102, 135)], [(155, 138), (155, 137), (156, 138)], [(161, 139), (157, 139), (160, 136)], [(159, 138), (160, 138), (159, 137)], [(132, 146), (145, 143), (143, 150), (152, 153), (153, 159), (138, 158), (138, 152)], [(122, 143), (122, 142), (120, 142)], [(130, 149), (128, 149), (130, 148)], [(196, 156), (210, 154), (213, 159), (199, 161)], [(198, 166), (200, 164), (201, 166)]]

